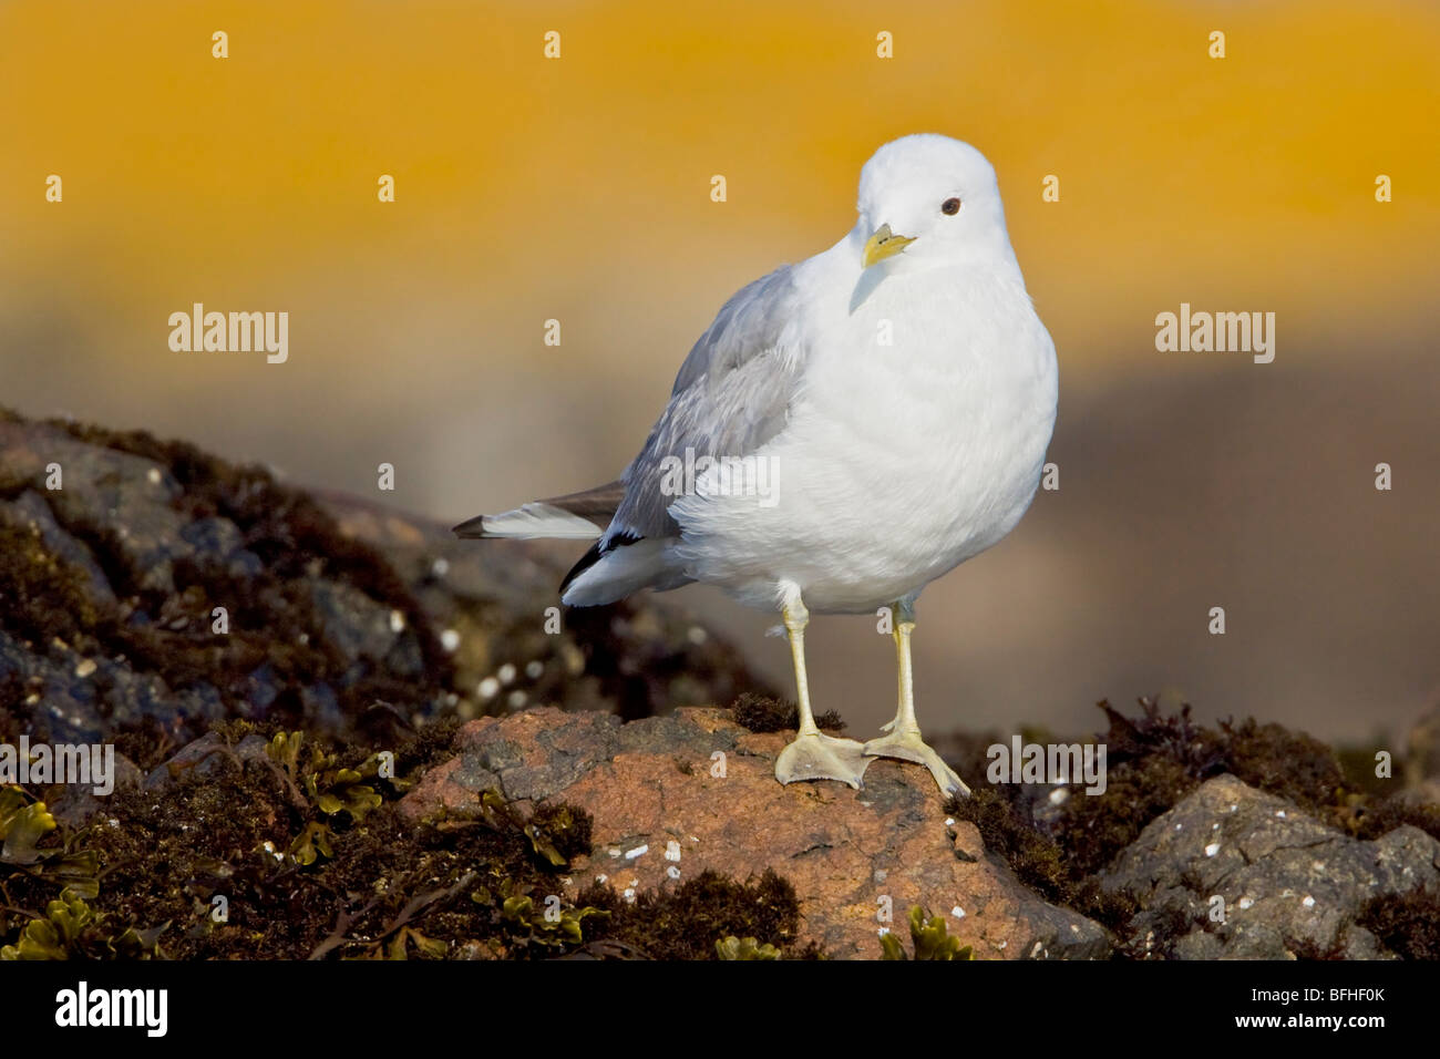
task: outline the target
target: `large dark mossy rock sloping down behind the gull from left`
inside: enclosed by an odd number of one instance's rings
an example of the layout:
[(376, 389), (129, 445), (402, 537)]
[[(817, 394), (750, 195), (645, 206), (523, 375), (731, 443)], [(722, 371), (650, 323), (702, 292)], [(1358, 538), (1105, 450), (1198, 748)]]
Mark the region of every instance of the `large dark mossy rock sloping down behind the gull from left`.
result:
[(763, 687), (665, 604), (562, 614), (569, 558), (0, 409), (0, 720), (183, 745), (226, 718), (344, 735), (377, 707), (644, 716)]

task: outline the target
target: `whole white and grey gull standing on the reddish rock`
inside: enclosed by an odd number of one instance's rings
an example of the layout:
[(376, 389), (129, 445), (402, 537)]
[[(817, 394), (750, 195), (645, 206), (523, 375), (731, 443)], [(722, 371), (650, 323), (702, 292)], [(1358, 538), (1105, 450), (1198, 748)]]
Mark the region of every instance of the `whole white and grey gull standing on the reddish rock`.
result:
[[(721, 307), (618, 480), (455, 532), (593, 540), (560, 585), (566, 605), (701, 582), (779, 611), (799, 728), (776, 779), (860, 788), (874, 758), (897, 758), (968, 795), (916, 720), (916, 598), (1009, 533), (1034, 499), (1056, 349), (976, 148), (936, 134), (883, 146), (861, 170), (857, 210), (834, 246)], [(883, 608), (896, 716), (865, 743), (827, 735), (805, 671), (809, 615)]]

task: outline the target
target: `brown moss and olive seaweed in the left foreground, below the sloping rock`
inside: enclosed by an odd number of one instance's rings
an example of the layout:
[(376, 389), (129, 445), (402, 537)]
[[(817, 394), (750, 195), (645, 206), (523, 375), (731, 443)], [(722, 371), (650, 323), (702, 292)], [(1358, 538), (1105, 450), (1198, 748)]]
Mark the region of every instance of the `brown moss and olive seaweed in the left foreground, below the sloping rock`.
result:
[[(634, 905), (603, 888), (566, 901), (560, 875), (589, 852), (593, 823), (564, 803), (524, 816), (490, 792), (474, 817), (406, 821), (397, 795), (448, 758), (441, 733), (393, 751), (406, 765), (395, 781), (374, 775), (372, 746), (243, 720), (217, 733), (228, 749), (203, 772), (118, 791), (94, 824), (43, 834), (45, 870), (0, 864), (0, 945), (30, 938), (24, 954), (53, 955), (40, 921), (84, 869), (85, 909), (59, 915), (94, 916), (104, 929), (89, 929), (73, 955), (716, 958), (716, 941), (730, 935), (816, 955), (795, 944), (799, 902), (773, 873), (749, 883), (706, 873)], [(242, 761), (235, 745), (249, 735), (269, 749)]]

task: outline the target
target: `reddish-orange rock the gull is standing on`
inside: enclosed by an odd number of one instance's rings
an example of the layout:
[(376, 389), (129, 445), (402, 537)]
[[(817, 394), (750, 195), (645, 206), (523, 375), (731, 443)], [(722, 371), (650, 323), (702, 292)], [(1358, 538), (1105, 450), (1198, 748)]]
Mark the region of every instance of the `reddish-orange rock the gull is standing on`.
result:
[(592, 880), (625, 893), (704, 869), (744, 879), (773, 867), (799, 896), (802, 941), (841, 958), (878, 958), (877, 915), (890, 911), (904, 934), (916, 903), (945, 915), (976, 958), (1109, 955), (1102, 926), (1037, 898), (985, 852), (972, 824), (946, 818), (923, 768), (877, 761), (861, 791), (783, 787), (775, 759), (789, 739), (747, 732), (720, 709), (629, 723), (531, 709), (465, 725), (458, 756), (400, 808), (412, 821), (441, 810), (462, 816), (495, 788), (586, 810), (593, 850), (572, 864), (567, 898)]

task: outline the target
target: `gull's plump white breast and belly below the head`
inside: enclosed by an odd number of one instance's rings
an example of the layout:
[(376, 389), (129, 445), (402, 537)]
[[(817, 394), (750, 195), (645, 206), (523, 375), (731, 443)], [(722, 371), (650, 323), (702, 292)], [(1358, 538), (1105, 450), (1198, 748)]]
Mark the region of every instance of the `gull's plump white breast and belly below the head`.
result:
[(789, 581), (814, 611), (865, 612), (1024, 514), (1056, 419), (1054, 344), (1009, 267), (886, 277), (854, 308), (851, 284), (815, 287), (789, 421), (755, 454), (772, 503), (683, 497), (675, 555), (750, 605)]

